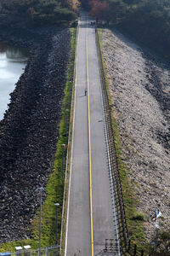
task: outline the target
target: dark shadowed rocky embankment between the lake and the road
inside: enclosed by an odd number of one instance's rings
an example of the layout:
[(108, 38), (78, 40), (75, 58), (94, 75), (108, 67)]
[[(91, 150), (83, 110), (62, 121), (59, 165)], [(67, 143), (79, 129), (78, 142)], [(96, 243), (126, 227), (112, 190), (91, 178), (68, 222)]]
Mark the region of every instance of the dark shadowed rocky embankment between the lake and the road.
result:
[(37, 34), (20, 31), (19, 24), (11, 35), (3, 22), (0, 39), (29, 46), (31, 55), (0, 122), (0, 243), (31, 236), (27, 229), (39, 207), (35, 190), (53, 166), (71, 39), (68, 29)]

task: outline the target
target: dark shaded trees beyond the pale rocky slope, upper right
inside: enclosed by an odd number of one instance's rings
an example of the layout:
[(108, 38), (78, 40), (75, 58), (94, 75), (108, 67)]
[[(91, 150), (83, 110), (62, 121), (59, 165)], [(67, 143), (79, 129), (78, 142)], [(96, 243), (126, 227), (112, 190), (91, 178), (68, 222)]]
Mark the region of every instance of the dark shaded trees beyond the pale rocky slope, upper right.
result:
[(128, 33), (151, 51), (170, 57), (169, 0), (79, 0), (96, 22)]

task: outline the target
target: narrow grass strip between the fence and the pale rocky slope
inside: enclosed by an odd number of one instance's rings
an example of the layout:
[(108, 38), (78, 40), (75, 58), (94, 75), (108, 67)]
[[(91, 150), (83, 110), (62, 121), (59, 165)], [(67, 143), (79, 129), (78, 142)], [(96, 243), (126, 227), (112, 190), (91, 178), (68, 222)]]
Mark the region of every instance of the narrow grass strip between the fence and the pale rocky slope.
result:
[[(102, 29), (98, 29), (99, 33), (99, 45), (102, 49)], [(127, 177), (127, 173), (131, 172), (127, 169), (126, 164), (122, 161), (122, 151), (121, 151), (121, 139), (119, 128), (117, 125), (116, 116), (114, 114), (114, 108), (112, 107), (110, 87), (106, 77), (105, 64), (102, 57), (104, 72), (105, 72), (105, 84), (107, 89), (107, 95), (109, 99), (109, 104), (111, 106), (111, 121), (112, 128), (114, 133), (114, 141), (116, 145), (116, 156), (118, 164), (119, 177), (122, 183), (122, 196), (125, 206), (126, 221), (127, 221), (127, 230), (130, 231), (130, 238), (132, 241), (135, 241), (135, 244), (139, 248), (144, 247), (145, 237), (144, 237), (144, 214), (142, 212), (137, 212), (136, 207), (139, 205), (137, 196), (135, 195), (135, 190), (133, 189), (133, 184), (130, 182), (130, 179)]]

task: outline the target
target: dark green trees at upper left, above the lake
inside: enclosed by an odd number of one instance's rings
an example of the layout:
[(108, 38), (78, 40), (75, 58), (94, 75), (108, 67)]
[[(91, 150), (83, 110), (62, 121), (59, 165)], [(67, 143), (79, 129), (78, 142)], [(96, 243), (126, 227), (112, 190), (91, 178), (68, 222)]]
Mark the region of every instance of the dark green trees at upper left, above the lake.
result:
[(76, 19), (70, 1), (59, 0), (2, 0), (0, 13), (20, 15), (36, 26), (58, 24), (68, 25)]

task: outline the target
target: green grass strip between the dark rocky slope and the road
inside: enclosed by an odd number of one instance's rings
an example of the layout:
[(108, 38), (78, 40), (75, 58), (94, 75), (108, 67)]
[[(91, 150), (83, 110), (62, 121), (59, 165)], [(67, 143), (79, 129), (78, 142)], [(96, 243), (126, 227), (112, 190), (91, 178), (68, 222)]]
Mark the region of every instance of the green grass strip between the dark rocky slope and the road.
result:
[[(59, 140), (56, 146), (56, 154), (54, 156), (54, 166), (51, 175), (48, 177), (48, 184), (46, 186), (47, 197), (42, 205), (42, 247), (48, 247), (56, 244), (55, 230), (56, 230), (56, 207), (54, 203), (58, 202), (58, 244), (60, 239), (60, 228), (62, 221), (62, 206), (64, 196), (65, 177), (62, 177), (62, 156), (64, 150), (64, 159), (66, 159), (66, 146), (68, 133), (69, 133), (69, 121), (71, 111), (71, 92), (74, 75), (74, 59), (76, 48), (76, 28), (71, 28), (71, 51), (70, 61), (67, 71), (67, 81), (65, 84), (65, 97), (62, 104), (62, 118), (59, 123)], [(66, 131), (67, 126), (67, 131)], [(65, 160), (64, 160), (65, 164)], [(65, 165), (64, 165), (65, 167)], [(65, 168), (64, 168), (65, 170)], [(39, 245), (39, 212), (37, 212), (35, 218), (31, 222), (32, 239), (26, 239), (21, 241), (7, 242), (0, 246), (0, 253), (10, 251), (14, 252), (14, 247), (24, 245), (31, 245), (32, 249), (36, 249)]]

